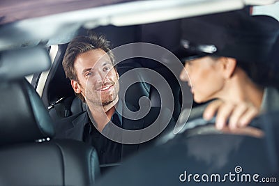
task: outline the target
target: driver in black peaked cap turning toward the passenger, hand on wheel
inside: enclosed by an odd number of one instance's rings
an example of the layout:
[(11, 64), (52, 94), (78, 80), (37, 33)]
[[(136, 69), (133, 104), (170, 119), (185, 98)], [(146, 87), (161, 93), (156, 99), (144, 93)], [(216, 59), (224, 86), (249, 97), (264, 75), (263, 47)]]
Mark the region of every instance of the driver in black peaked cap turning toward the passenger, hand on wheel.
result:
[[(273, 47), (278, 45), (277, 20), (237, 10), (188, 18), (182, 28), (181, 48), (187, 60), (180, 78), (191, 86), (195, 102), (219, 98), (227, 103), (217, 115), (223, 114), (229, 121), (216, 117), (218, 129), (229, 124), (235, 130), (259, 113), (279, 109), (279, 93), (272, 84), (276, 69), (270, 61)], [(212, 107), (219, 106), (211, 106), (211, 111), (207, 108), (207, 118), (216, 111)]]

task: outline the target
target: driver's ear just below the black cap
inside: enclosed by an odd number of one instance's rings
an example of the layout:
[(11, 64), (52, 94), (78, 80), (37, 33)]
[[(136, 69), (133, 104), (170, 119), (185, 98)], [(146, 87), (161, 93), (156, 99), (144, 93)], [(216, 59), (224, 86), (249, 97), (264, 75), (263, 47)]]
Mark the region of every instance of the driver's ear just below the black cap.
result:
[(220, 61), (223, 68), (223, 76), (225, 79), (232, 77), (234, 70), (236, 69), (236, 59), (229, 57), (221, 57)]

